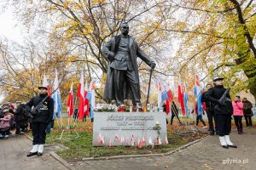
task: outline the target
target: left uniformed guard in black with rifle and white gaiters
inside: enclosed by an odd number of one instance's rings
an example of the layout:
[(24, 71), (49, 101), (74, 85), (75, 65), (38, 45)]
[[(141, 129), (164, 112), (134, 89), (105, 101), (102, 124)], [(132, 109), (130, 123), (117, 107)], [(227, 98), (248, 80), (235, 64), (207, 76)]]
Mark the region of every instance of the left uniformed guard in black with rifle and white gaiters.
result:
[[(26, 111), (31, 111), (32, 106), (36, 107), (46, 96), (47, 88), (44, 86), (38, 87), (39, 95), (33, 97), (26, 103)], [(27, 156), (42, 156), (44, 151), (44, 144), (46, 138), (46, 127), (49, 122), (52, 120), (54, 113), (54, 100), (51, 97), (48, 97), (43, 103), (43, 107), (39, 109), (39, 112), (33, 114), (31, 120), (32, 124), (32, 135), (33, 135), (33, 147), (32, 150), (27, 154)]]

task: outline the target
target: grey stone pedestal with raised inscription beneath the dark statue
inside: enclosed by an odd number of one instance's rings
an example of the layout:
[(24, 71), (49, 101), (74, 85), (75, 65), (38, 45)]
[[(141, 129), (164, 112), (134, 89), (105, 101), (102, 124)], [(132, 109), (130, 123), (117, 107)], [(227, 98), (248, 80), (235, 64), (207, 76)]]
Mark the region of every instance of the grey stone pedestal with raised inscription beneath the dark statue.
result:
[[(135, 144), (143, 137), (148, 145), (148, 139), (153, 143), (159, 138), (164, 144), (166, 139), (166, 113), (163, 112), (96, 112), (93, 125), (94, 146), (131, 145), (132, 136)], [(116, 138), (118, 137), (118, 138)], [(124, 139), (123, 144), (120, 140)], [(98, 139), (104, 139), (101, 144)], [(128, 144), (127, 144), (128, 141)]]

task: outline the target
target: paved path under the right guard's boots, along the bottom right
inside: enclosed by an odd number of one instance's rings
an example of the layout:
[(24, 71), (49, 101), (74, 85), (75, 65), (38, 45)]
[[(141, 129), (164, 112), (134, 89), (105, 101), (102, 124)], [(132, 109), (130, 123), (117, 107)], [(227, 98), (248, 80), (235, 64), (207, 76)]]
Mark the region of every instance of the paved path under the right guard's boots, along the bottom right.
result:
[[(246, 128), (239, 135), (235, 130), (230, 139), (238, 145), (237, 149), (223, 149), (219, 146), (218, 136), (209, 136), (170, 156), (137, 157), (102, 161), (79, 161), (73, 163), (77, 169), (91, 170), (200, 170), (200, 169), (256, 169), (256, 127)], [(227, 160), (234, 160), (226, 163)], [(244, 164), (239, 161), (244, 161)]]

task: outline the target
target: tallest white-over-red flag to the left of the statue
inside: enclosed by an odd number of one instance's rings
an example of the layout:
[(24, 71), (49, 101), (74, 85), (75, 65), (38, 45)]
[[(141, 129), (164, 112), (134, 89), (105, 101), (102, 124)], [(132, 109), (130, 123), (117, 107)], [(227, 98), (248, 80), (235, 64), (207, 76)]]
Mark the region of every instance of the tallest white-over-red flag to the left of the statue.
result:
[(79, 90), (77, 96), (79, 97), (79, 119), (84, 117), (84, 71), (81, 71), (79, 82)]

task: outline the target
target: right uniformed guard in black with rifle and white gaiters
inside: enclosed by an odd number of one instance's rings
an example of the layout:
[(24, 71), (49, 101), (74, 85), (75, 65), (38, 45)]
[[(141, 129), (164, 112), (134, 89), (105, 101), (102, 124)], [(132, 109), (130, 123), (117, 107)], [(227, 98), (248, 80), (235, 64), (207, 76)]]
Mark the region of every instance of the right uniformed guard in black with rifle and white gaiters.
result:
[(220, 144), (226, 149), (229, 147), (236, 148), (236, 144), (230, 141), (231, 116), (233, 114), (230, 94), (226, 95), (223, 103), (219, 100), (226, 91), (226, 88), (222, 84), (223, 80), (224, 78), (214, 79), (215, 86), (207, 91), (205, 98), (211, 101), (214, 106), (214, 113), (218, 122), (217, 129)]

